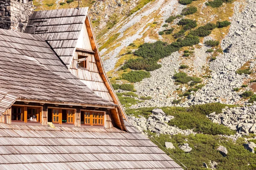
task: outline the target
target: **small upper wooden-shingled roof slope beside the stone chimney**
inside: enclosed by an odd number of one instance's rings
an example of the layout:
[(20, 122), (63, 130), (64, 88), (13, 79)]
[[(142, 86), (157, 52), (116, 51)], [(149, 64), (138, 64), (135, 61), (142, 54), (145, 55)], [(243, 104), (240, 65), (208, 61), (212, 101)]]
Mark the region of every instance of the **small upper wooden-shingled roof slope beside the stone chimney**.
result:
[(60, 59), (69, 67), (87, 11), (88, 7), (35, 11), (29, 18), (30, 26), (26, 27), (25, 32), (34, 34), (32, 25), (38, 25), (35, 34), (47, 40)]

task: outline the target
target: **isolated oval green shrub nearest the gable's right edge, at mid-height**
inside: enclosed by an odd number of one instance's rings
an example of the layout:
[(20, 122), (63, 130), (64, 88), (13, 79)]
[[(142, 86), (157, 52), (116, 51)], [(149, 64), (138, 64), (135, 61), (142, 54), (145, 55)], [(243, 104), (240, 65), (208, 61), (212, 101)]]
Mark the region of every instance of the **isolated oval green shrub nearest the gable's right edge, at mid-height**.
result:
[(126, 79), (129, 82), (140, 82), (148, 77), (150, 77), (150, 73), (146, 71), (130, 71), (129, 73), (122, 74), (122, 79)]

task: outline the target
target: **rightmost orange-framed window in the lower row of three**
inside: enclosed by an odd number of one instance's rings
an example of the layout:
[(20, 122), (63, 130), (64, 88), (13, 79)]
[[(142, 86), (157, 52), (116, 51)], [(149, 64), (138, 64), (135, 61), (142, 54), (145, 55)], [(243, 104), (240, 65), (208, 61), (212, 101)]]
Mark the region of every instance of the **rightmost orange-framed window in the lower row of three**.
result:
[[(83, 117), (83, 118), (82, 118)], [(81, 124), (84, 125), (104, 125), (104, 112), (81, 111)]]

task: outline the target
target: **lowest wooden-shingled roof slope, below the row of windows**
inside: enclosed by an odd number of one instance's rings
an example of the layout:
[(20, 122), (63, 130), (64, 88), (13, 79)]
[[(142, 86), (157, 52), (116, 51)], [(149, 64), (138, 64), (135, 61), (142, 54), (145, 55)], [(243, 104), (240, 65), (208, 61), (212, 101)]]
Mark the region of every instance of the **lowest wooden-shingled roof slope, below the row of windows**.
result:
[(0, 123), (0, 169), (182, 170), (134, 131)]

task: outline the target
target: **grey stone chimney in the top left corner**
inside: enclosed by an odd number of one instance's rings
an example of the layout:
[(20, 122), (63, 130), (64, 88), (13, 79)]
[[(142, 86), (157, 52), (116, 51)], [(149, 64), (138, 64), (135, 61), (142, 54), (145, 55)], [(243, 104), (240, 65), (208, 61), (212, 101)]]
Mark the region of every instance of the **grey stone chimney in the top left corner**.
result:
[(0, 28), (23, 32), (32, 11), (32, 0), (0, 0)]

